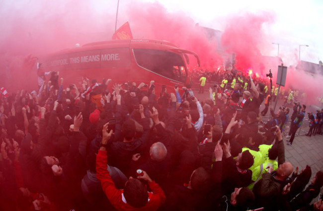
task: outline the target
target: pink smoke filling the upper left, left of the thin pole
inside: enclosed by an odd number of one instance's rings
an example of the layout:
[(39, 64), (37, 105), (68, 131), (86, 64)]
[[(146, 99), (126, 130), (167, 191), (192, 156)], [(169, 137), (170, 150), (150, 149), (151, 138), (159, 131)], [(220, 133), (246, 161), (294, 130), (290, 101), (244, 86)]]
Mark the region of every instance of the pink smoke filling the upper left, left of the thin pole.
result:
[(30, 54), (42, 57), (73, 48), (76, 43), (111, 38), (111, 15), (101, 15), (90, 8), (90, 3), (78, 0), (4, 0), (0, 10), (1, 86), (8, 90), (37, 87), (36, 66), (25, 71), (24, 60)]

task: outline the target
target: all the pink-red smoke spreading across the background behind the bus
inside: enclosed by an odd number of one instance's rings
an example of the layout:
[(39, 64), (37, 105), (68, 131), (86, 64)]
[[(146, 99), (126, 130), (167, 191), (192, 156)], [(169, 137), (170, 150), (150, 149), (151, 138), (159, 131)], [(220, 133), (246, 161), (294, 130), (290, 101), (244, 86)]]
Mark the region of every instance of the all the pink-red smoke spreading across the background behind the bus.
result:
[[(125, 9), (126, 8), (126, 9)], [(23, 71), (23, 61), (28, 55), (42, 57), (44, 54), (73, 48), (89, 42), (110, 40), (114, 32), (116, 3), (79, 0), (15, 1), (4, 0), (0, 10), (0, 84), (10, 89), (36, 88), (35, 67)], [(234, 14), (226, 21), (221, 42), (210, 39), (201, 27), (197, 27), (185, 12), (170, 13), (160, 3), (120, 2), (118, 25), (129, 21), (134, 39), (167, 40), (182, 49), (197, 53), (202, 68), (218, 69), (235, 54), (235, 68), (246, 72), (253, 70), (265, 76), (271, 69), (274, 78), (280, 61), (266, 59), (262, 52), (274, 48), (274, 41), (266, 26), (273, 23), (274, 14)], [(208, 38), (207, 38), (208, 37)], [(218, 46), (221, 44), (222, 46)], [(217, 51), (224, 49), (226, 55)], [(295, 53), (297, 58), (297, 53)], [(284, 55), (286, 57), (286, 55)], [(228, 57), (231, 58), (232, 57)], [(191, 64), (194, 59), (191, 59)], [(284, 61), (285, 66), (296, 66), (295, 60)], [(91, 75), (89, 75), (91, 77)], [(95, 76), (93, 76), (95, 77)], [(287, 86), (306, 83), (308, 96), (319, 89), (317, 79), (289, 69)], [(321, 93), (315, 92), (316, 96)], [(314, 99), (316, 97), (312, 97)]]

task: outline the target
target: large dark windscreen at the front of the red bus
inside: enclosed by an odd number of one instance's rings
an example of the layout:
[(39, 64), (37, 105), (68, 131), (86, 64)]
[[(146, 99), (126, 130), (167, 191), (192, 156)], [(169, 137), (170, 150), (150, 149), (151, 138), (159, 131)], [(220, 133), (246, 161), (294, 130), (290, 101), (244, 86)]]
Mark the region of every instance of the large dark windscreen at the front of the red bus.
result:
[(186, 82), (187, 74), (180, 55), (153, 49), (133, 49), (133, 52), (140, 67), (172, 80)]

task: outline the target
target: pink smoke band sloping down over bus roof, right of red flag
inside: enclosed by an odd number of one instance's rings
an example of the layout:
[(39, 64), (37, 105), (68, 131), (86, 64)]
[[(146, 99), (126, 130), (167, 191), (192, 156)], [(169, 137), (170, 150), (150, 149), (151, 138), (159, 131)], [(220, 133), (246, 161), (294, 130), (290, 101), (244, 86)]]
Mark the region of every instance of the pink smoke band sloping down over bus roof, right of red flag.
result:
[(201, 67), (212, 70), (223, 61), (216, 53), (216, 43), (207, 39), (205, 31), (184, 12), (169, 13), (160, 3), (129, 5), (131, 30), (134, 37), (167, 40), (182, 49), (194, 51), (201, 60)]

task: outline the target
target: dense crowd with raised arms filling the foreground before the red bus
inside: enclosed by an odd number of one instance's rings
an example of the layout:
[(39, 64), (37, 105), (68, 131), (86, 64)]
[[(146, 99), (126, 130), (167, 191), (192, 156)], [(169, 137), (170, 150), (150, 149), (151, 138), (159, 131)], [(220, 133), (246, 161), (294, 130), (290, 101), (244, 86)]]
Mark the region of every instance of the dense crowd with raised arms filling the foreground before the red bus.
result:
[(198, 100), (189, 84), (169, 91), (155, 81), (85, 79), (77, 87), (54, 72), (38, 92), (8, 93), (0, 210), (323, 210), (311, 205), (323, 172), (310, 180), (310, 166), (299, 172), (285, 161), (286, 111), (271, 109), (260, 124), (265, 85), (243, 82), (247, 89), (218, 85)]

